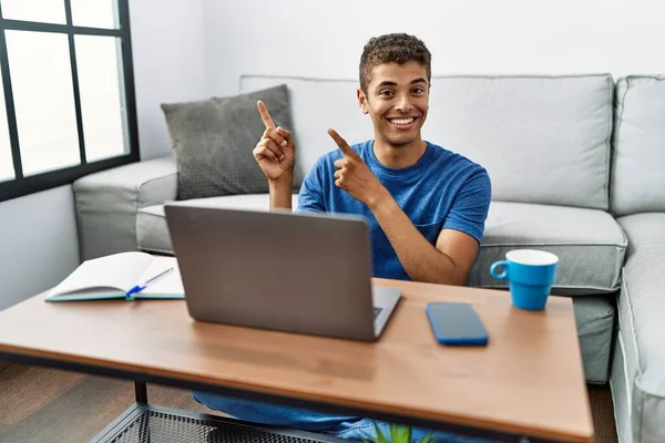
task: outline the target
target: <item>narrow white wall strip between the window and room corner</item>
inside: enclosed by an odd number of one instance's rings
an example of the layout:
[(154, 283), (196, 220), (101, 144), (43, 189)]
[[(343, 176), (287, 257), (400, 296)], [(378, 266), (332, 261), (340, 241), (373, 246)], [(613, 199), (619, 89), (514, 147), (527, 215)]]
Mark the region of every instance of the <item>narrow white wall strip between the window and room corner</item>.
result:
[(171, 152), (161, 103), (206, 97), (206, 0), (131, 0), (141, 158)]

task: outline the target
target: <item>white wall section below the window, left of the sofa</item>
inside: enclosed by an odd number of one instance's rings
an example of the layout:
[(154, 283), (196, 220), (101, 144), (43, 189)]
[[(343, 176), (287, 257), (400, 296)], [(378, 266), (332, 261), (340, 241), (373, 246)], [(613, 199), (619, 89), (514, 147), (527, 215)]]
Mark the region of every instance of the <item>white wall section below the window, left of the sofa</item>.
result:
[(0, 204), (0, 310), (52, 287), (76, 266), (71, 186)]

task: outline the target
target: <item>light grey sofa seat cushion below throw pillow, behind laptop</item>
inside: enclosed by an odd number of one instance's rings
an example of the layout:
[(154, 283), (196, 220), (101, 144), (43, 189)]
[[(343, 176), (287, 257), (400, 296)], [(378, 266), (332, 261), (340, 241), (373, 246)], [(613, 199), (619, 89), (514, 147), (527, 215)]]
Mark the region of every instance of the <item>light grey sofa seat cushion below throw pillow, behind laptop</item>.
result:
[[(177, 202), (178, 205), (201, 205), (207, 207), (238, 209), (269, 209), (268, 194), (225, 195), (219, 197), (192, 198)], [(298, 196), (293, 196), (293, 207), (298, 204)], [(136, 241), (139, 249), (150, 253), (173, 254), (171, 236), (164, 215), (164, 205), (146, 206), (139, 209), (136, 217)]]

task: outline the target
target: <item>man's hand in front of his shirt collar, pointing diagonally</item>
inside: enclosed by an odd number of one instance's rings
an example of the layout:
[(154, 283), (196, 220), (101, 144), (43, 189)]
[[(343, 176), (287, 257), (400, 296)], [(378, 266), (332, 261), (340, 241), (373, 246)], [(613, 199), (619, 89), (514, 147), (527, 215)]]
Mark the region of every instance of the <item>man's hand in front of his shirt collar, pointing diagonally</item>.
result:
[(328, 130), (344, 157), (335, 162), (335, 186), (346, 190), (355, 199), (372, 207), (380, 198), (390, 195), (376, 175), (369, 171), (362, 158), (335, 131)]

